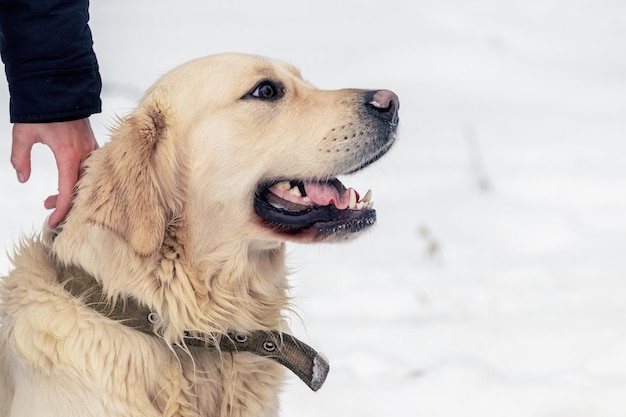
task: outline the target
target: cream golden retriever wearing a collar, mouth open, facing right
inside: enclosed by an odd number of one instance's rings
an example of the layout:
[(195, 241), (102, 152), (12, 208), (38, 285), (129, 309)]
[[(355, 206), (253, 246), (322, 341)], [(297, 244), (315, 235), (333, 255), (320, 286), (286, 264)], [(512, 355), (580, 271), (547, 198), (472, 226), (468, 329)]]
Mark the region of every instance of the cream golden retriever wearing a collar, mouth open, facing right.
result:
[(259, 56), (163, 75), (88, 158), (62, 225), (15, 249), (0, 417), (273, 417), (287, 369), (318, 389), (326, 362), (288, 333), (285, 242), (374, 224), (370, 193), (337, 176), (389, 150), (398, 107)]

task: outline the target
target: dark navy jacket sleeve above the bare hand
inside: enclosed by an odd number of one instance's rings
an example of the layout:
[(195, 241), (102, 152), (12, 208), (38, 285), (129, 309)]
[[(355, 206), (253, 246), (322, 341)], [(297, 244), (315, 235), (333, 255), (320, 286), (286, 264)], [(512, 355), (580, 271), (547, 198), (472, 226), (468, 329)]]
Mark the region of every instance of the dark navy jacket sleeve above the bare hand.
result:
[(89, 0), (0, 0), (0, 53), (12, 123), (76, 120), (101, 111)]

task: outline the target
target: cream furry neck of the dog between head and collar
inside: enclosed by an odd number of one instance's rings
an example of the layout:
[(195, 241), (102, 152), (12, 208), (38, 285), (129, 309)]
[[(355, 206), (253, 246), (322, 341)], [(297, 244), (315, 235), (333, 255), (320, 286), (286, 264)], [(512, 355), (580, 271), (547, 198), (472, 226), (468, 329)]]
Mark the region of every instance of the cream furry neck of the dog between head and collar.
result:
[(159, 251), (139, 256), (116, 233), (70, 217), (54, 237), (52, 252), (62, 264), (94, 276), (107, 298), (145, 303), (162, 318), (169, 343), (179, 343), (189, 329), (227, 334), (285, 328), (289, 299), (282, 245), (265, 250), (225, 242), (192, 262), (176, 237), (183, 231), (168, 230)]

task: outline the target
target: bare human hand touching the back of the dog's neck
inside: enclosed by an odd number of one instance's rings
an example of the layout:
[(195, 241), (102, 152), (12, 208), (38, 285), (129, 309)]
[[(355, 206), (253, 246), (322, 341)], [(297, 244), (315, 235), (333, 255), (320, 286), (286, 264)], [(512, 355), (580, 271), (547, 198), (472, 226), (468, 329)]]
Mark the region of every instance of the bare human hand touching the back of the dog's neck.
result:
[(44, 201), (46, 209), (55, 209), (48, 218), (48, 226), (55, 228), (70, 211), (76, 183), (82, 173), (81, 165), (98, 148), (98, 142), (89, 119), (14, 124), (11, 164), (19, 182), (30, 178), (30, 154), (35, 143), (43, 143), (52, 150), (59, 171), (58, 194)]

